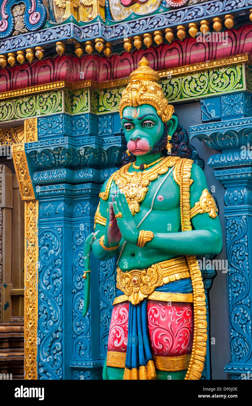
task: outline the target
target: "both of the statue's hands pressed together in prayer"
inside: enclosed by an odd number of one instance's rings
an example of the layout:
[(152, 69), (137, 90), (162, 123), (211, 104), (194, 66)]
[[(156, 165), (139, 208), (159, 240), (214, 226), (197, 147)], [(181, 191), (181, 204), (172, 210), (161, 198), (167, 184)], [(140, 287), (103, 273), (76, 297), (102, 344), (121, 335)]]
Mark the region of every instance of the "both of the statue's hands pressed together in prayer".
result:
[(109, 197), (109, 209), (105, 226), (105, 245), (115, 246), (119, 244), (121, 238), (131, 244), (137, 244), (138, 235), (139, 232), (125, 195), (122, 192), (112, 194)]

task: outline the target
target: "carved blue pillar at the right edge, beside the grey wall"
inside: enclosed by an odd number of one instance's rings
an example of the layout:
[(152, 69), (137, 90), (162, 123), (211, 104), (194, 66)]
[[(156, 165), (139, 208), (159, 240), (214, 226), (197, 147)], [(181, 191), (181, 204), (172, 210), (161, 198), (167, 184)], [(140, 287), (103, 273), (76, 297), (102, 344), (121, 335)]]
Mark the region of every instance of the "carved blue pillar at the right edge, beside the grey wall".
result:
[(208, 164), (225, 188), (231, 362), (224, 370), (231, 379), (246, 379), (252, 370), (251, 100), (252, 95), (247, 92), (202, 100), (202, 120), (221, 121), (190, 128), (190, 138), (204, 140), (220, 151), (209, 158)]

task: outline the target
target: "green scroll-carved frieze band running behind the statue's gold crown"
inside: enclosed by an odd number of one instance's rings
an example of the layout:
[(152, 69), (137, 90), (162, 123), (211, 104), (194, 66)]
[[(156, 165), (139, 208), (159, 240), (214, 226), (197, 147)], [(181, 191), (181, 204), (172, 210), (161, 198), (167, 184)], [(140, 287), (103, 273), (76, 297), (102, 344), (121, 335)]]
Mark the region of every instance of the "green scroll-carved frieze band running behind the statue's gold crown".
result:
[[(245, 63), (181, 74), (160, 80), (170, 103), (195, 102), (201, 98), (237, 91), (252, 92), (252, 73)], [(105, 114), (117, 112), (124, 87), (111, 89), (59, 89), (0, 101), (0, 122), (49, 114)]]

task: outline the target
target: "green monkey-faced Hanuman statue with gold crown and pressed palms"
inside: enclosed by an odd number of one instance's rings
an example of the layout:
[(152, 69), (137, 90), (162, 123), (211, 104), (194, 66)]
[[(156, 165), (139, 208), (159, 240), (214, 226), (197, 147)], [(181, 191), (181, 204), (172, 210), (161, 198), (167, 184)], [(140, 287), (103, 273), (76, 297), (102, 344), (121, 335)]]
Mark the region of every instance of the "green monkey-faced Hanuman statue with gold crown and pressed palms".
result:
[(205, 361), (196, 255), (220, 253), (222, 233), (202, 169), (169, 155), (178, 121), (159, 78), (145, 58), (130, 74), (120, 102), (125, 164), (102, 187), (84, 250), (83, 315), (90, 250), (102, 261), (118, 257), (103, 379), (200, 379)]

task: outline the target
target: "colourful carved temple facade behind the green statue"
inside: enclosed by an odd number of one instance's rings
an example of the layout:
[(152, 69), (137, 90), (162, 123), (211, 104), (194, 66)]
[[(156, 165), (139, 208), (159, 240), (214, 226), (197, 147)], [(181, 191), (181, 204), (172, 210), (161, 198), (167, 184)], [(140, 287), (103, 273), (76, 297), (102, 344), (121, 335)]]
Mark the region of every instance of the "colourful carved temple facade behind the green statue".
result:
[[(252, 0), (0, 0), (0, 374), (102, 379), (115, 259), (83, 244), (126, 140), (119, 103), (143, 56), (204, 169), (223, 249), (199, 257), (201, 379), (252, 371)], [(24, 365), (24, 374), (23, 374)]]

